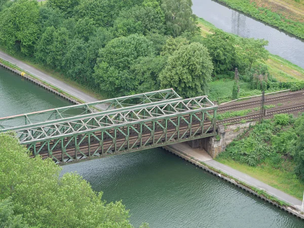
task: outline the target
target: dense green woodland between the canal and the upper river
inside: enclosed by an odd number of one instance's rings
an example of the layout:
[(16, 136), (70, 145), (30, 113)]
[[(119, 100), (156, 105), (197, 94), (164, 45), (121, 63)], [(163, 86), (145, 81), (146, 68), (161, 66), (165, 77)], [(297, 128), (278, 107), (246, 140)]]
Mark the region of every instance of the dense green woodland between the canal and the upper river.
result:
[(103, 97), (165, 87), (202, 95), (215, 76), (245, 74), (268, 57), (263, 40), (218, 29), (202, 37), (191, 0), (1, 1), (3, 48)]

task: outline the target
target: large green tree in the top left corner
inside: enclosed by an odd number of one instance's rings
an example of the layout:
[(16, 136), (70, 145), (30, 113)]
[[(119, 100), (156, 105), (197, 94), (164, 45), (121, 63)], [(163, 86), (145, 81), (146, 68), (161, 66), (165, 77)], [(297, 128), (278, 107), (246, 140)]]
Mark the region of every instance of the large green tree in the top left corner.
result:
[(33, 52), (40, 35), (39, 6), (35, 0), (18, 0), (0, 13), (0, 43), (25, 55)]

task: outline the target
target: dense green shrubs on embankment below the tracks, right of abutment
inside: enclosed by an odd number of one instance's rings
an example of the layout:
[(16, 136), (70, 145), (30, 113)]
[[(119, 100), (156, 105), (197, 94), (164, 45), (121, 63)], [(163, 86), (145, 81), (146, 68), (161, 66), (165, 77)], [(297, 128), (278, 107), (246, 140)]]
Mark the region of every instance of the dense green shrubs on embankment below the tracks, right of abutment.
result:
[[(234, 140), (221, 158), (231, 158), (250, 166), (267, 163), (277, 169), (294, 168), (304, 180), (304, 116), (278, 114), (252, 127), (248, 133)], [(294, 165), (284, 166), (293, 161)]]

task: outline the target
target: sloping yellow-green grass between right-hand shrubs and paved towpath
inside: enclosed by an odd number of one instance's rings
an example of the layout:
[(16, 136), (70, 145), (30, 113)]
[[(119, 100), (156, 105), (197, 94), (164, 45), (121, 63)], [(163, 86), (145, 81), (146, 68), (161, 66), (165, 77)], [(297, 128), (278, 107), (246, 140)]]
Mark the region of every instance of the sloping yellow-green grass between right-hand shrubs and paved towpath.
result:
[[(241, 164), (232, 159), (217, 158), (216, 161), (239, 170), (240, 172), (246, 173), (286, 194), (302, 200), (304, 184), (291, 172), (274, 169), (265, 164), (252, 167)], [(291, 164), (291, 166), (293, 166), (293, 164)]]

